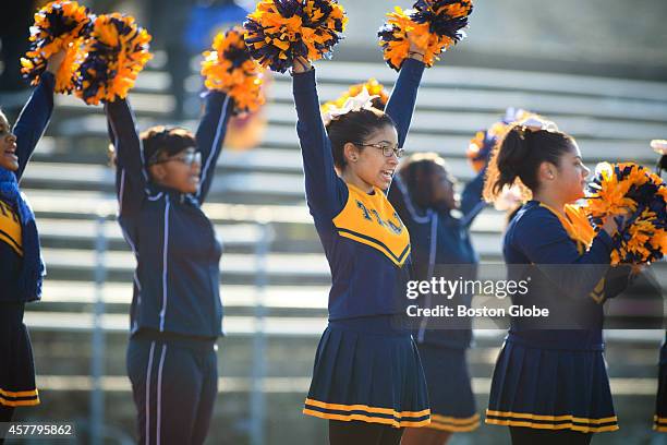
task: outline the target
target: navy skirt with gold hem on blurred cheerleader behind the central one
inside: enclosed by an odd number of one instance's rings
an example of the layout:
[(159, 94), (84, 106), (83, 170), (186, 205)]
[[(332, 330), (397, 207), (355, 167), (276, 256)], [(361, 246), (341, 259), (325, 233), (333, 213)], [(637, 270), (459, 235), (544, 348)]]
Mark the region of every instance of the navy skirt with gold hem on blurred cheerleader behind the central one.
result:
[(417, 345), (430, 402), (427, 428), (450, 432), (470, 432), (480, 426), (480, 414), (470, 383), (466, 349)]

